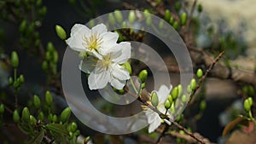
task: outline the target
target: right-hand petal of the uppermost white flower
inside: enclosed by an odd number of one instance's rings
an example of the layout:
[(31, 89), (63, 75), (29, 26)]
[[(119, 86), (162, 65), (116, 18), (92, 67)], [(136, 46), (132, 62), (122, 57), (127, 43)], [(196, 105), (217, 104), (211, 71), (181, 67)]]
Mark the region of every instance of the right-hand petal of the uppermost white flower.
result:
[(102, 55), (107, 55), (109, 52), (112, 52), (112, 48), (117, 44), (117, 40), (119, 38), (119, 34), (116, 32), (106, 32), (102, 35), (102, 45), (99, 52)]

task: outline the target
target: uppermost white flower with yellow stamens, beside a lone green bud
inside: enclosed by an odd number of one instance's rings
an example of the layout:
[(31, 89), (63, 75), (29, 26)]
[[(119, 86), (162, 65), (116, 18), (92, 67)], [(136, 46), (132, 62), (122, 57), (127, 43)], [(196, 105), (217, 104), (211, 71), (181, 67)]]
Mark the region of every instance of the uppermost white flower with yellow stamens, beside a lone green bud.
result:
[(84, 25), (75, 24), (70, 36), (66, 43), (71, 49), (89, 52), (98, 59), (102, 59), (102, 55), (107, 55), (108, 50), (117, 44), (119, 37), (116, 32), (108, 32), (103, 24), (96, 25), (91, 30)]

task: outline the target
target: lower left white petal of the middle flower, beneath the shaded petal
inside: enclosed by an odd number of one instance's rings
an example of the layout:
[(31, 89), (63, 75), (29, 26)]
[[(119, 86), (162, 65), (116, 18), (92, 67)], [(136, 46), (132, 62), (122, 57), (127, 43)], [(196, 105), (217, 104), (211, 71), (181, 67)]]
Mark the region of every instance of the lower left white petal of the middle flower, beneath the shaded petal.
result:
[(88, 78), (89, 88), (92, 89), (103, 89), (110, 79), (110, 73), (108, 70), (102, 70), (96, 66), (96, 69), (90, 73)]

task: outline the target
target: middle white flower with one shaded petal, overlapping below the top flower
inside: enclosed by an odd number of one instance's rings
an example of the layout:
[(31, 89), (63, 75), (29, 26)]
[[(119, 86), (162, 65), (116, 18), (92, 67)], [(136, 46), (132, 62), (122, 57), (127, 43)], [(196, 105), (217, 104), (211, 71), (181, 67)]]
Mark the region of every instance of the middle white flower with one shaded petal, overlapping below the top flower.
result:
[(122, 42), (108, 49), (102, 59), (89, 56), (81, 60), (79, 68), (90, 73), (88, 84), (90, 89), (102, 89), (110, 83), (116, 89), (123, 89), (130, 74), (119, 64), (125, 63), (131, 57), (131, 43)]

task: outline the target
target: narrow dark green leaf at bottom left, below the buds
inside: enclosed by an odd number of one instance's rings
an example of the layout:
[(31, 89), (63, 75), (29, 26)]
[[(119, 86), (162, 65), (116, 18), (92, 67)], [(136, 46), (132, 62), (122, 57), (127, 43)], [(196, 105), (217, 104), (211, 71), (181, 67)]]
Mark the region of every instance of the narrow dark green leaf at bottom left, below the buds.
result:
[(67, 136), (69, 135), (65, 126), (62, 124), (46, 124), (45, 129), (55, 134), (67, 135)]

